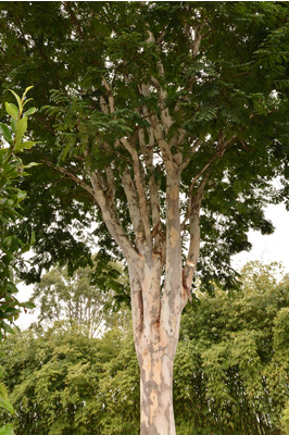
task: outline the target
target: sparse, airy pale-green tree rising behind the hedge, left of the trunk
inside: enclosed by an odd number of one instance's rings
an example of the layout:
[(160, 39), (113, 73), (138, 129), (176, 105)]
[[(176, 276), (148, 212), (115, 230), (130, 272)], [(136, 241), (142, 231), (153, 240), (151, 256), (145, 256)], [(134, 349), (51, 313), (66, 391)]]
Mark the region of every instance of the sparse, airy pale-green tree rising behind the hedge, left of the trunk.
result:
[(95, 258), (93, 273), (90, 268), (78, 269), (71, 277), (67, 268), (54, 268), (41, 277), (30, 297), (39, 309), (38, 326), (65, 321), (93, 337), (116, 322), (127, 322), (127, 313), (121, 310), (117, 298), (129, 290), (127, 276), (121, 264), (106, 264), (108, 271), (103, 271), (98, 260)]

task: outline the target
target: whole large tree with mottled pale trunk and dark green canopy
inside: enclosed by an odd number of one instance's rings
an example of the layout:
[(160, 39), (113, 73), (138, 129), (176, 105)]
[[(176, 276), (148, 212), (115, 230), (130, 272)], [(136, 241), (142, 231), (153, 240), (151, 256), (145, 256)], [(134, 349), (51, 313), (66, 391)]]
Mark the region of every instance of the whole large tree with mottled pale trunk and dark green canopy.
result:
[(230, 256), (250, 248), (249, 227), (273, 231), (263, 206), (288, 194), (288, 5), (1, 8), (3, 82), (34, 79), (47, 105), (33, 128), (48, 170), (35, 172), (26, 223), (42, 260), (27, 278), (87, 264), (87, 237), (68, 225), (97, 224), (129, 272), (141, 435), (174, 435), (173, 363), (196, 266), (209, 290), (231, 288)]

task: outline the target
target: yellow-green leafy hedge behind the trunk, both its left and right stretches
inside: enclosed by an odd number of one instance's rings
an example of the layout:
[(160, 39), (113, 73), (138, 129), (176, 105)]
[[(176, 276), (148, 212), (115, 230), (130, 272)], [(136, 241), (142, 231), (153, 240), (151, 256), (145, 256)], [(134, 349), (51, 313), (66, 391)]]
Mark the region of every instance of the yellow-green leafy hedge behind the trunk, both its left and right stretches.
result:
[[(263, 283), (257, 291), (247, 285), (252, 269), (260, 270), (254, 284)], [(200, 294), (200, 306), (187, 309), (174, 375), (178, 434), (279, 435), (282, 412), (286, 427), (288, 278), (273, 285), (271, 271), (249, 264), (242, 291)], [(56, 323), (41, 335), (17, 333), (3, 347), (16, 434), (139, 433), (129, 324), (96, 339)]]

